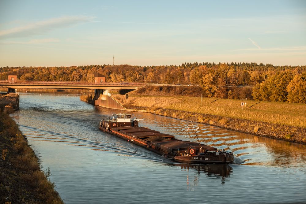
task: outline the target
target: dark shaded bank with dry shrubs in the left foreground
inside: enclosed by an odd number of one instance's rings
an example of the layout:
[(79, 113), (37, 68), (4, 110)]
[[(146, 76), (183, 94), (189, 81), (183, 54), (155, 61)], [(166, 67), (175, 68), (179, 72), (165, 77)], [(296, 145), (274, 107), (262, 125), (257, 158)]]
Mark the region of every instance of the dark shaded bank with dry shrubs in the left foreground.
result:
[[(6, 101), (14, 106), (13, 100)], [(48, 180), (50, 171), (41, 169), (25, 135), (9, 117), (10, 106), (0, 111), (0, 203), (63, 203)]]

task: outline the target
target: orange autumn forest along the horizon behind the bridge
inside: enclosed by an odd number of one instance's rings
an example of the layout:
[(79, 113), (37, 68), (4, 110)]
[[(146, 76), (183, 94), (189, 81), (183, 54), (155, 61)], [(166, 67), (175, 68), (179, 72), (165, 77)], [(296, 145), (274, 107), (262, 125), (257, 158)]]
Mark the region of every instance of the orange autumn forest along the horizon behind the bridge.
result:
[(94, 82), (95, 72), (106, 76), (107, 82), (199, 85), (204, 97), (247, 97), (263, 101), (306, 103), (306, 65), (187, 62), (179, 66), (1, 67), (0, 80), (17, 74), (19, 80)]

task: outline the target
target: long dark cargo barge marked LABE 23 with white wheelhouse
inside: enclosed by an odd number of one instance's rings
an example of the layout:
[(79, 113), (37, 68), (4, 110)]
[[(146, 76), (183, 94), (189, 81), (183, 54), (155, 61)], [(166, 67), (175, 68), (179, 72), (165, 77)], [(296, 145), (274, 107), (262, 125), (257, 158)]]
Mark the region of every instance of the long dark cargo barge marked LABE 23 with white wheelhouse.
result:
[(232, 152), (139, 127), (139, 121), (131, 120), (130, 114), (114, 114), (101, 120), (99, 129), (180, 163), (219, 164), (234, 161)]

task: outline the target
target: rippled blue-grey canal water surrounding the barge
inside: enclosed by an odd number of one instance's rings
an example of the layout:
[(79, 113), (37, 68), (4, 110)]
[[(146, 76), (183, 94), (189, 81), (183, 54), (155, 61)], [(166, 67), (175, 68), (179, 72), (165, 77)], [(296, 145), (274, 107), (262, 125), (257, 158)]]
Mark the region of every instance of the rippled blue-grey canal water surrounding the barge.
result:
[[(184, 165), (101, 132), (119, 110), (70, 93), (21, 93), (20, 125), (65, 203), (304, 203), (306, 146), (197, 124), (199, 139), (235, 164)], [(122, 111), (121, 111), (122, 112)], [(189, 121), (131, 113), (145, 126), (196, 142)]]

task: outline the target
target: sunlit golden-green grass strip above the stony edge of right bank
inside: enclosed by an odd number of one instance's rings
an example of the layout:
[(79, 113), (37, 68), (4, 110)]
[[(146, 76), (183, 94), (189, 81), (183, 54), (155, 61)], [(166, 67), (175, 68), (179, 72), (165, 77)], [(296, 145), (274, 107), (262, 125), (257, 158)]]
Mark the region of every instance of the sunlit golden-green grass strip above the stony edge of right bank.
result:
[[(306, 128), (306, 104), (198, 97), (112, 95), (126, 108), (173, 109)], [(240, 102), (246, 102), (242, 109)]]

